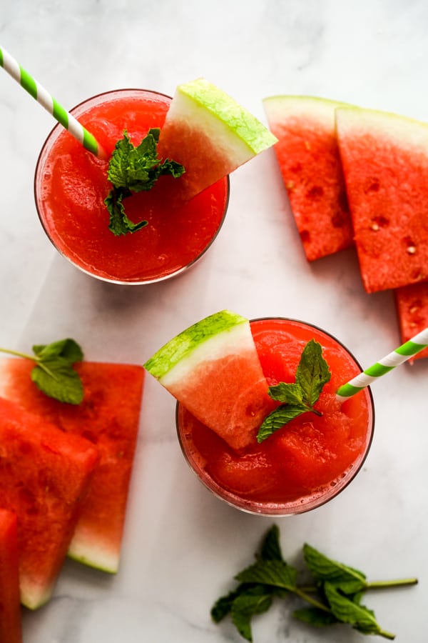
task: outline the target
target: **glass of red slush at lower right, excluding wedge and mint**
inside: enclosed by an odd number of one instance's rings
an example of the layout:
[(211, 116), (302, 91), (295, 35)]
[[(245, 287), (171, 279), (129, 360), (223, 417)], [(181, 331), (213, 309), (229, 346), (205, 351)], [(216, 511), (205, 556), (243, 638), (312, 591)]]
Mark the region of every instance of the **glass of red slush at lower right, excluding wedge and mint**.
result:
[(302, 349), (310, 339), (322, 346), (332, 377), (315, 407), (258, 444), (236, 452), (177, 404), (181, 449), (193, 472), (220, 499), (264, 516), (300, 514), (335, 498), (360, 471), (370, 449), (374, 406), (370, 388), (342, 404), (337, 388), (362, 371), (335, 337), (302, 321), (251, 321), (263, 372), (270, 386), (294, 382)]

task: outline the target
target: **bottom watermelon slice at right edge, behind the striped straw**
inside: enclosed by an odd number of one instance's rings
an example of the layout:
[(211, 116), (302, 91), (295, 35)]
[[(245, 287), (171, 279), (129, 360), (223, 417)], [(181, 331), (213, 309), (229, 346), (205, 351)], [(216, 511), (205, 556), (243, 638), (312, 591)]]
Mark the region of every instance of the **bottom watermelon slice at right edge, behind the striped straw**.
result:
[[(402, 342), (408, 342), (414, 335), (428, 327), (428, 282), (402, 286), (394, 291)], [(428, 357), (428, 348), (409, 359)]]

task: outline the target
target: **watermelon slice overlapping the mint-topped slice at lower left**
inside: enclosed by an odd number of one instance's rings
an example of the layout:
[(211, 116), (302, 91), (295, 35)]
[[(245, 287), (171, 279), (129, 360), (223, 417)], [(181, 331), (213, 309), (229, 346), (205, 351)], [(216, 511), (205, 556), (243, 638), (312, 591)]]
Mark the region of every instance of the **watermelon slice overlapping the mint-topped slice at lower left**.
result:
[(98, 449), (0, 397), (0, 507), (18, 517), (21, 602), (44, 604), (73, 536)]

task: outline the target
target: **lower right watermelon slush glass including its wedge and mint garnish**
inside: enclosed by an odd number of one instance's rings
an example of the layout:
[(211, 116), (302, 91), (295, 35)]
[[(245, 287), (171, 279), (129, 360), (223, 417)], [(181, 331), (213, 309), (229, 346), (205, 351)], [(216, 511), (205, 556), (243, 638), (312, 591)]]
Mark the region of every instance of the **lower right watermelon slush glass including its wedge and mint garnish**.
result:
[[(228, 321), (220, 322), (225, 314)], [(336, 397), (361, 368), (317, 327), (233, 315), (222, 311), (203, 320), (205, 327), (210, 319), (223, 324), (223, 331), (218, 327), (210, 337), (207, 331), (201, 342), (199, 327), (192, 348), (188, 329), (145, 365), (178, 399), (176, 424), (185, 459), (210, 491), (246, 512), (285, 516), (320, 507), (351, 482), (370, 449), (370, 389), (345, 402)], [(159, 362), (165, 349), (169, 359), (176, 356), (171, 349), (179, 345), (185, 345), (179, 362)], [(252, 361), (249, 375), (245, 364)], [(232, 428), (223, 407), (233, 417)]]

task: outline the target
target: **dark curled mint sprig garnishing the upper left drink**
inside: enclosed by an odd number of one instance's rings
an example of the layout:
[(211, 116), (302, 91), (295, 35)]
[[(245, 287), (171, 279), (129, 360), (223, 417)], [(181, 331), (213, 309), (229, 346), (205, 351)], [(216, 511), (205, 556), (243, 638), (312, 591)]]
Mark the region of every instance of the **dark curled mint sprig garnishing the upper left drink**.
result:
[(116, 143), (108, 164), (108, 180), (113, 185), (104, 200), (110, 214), (108, 228), (116, 236), (136, 232), (148, 224), (145, 219), (134, 224), (125, 213), (123, 199), (133, 193), (151, 190), (161, 174), (175, 179), (184, 173), (184, 167), (175, 161), (158, 159), (158, 141), (161, 130), (151, 128), (138, 147), (131, 143), (126, 131)]

